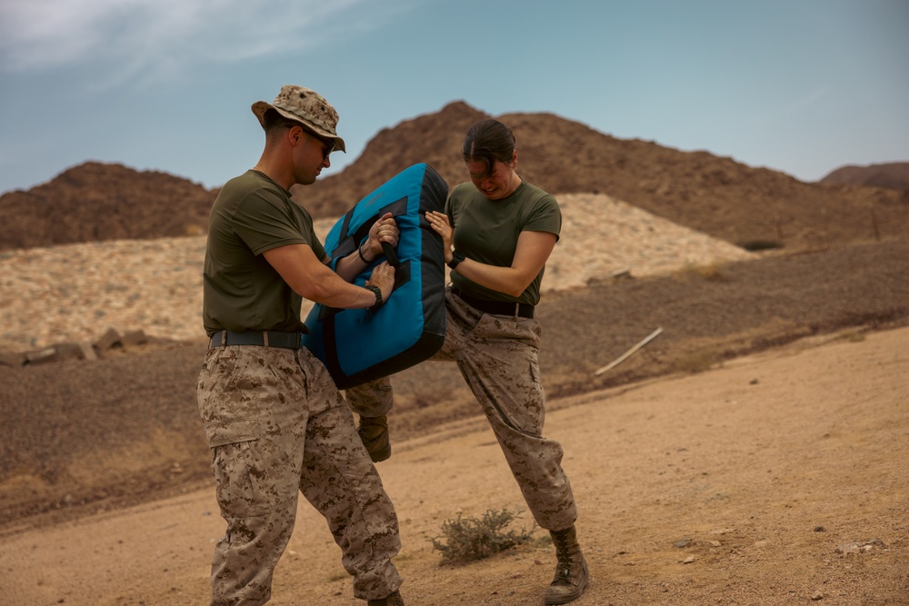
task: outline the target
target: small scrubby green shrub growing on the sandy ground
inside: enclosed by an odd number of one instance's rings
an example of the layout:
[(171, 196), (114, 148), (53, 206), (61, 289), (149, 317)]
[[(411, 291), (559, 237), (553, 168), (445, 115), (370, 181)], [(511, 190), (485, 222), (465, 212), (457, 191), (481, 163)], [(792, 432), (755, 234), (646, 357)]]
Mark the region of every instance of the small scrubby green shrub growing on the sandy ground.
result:
[(442, 552), (440, 565), (483, 560), (499, 551), (531, 541), (533, 529), (504, 531), (504, 527), (518, 517), (508, 510), (487, 510), (482, 519), (464, 518), (458, 512), (457, 518), (445, 520), (442, 524), (445, 542), (439, 541), (441, 537), (432, 540), (433, 551)]

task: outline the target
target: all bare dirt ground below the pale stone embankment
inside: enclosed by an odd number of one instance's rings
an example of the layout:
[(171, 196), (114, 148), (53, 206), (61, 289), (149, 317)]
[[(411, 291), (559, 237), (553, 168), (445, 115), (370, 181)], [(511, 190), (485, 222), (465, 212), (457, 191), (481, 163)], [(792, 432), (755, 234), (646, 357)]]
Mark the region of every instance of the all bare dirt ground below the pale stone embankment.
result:
[[(547, 293), (546, 433), (564, 445), (593, 574), (576, 603), (909, 604), (907, 275), (909, 242), (894, 240)], [(224, 522), (195, 411), (204, 349), (152, 339), (0, 365), (0, 604), (206, 602)], [(552, 545), (456, 369), (421, 364), (395, 387), (395, 452), (378, 468), (407, 603), (542, 603)], [(440, 566), (446, 520), (503, 509), (538, 541)], [(301, 504), (272, 603), (357, 603), (339, 554)]]

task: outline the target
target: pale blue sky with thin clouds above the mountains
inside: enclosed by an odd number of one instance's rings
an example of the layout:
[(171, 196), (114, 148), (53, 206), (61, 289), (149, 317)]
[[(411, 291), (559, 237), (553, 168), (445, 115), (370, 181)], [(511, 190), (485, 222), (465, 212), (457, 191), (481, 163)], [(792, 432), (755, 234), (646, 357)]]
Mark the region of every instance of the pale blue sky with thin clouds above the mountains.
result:
[(323, 175), (464, 101), (813, 182), (909, 161), (907, 31), (909, 0), (0, 0), (0, 194), (87, 161), (219, 186), (283, 84), (341, 116)]

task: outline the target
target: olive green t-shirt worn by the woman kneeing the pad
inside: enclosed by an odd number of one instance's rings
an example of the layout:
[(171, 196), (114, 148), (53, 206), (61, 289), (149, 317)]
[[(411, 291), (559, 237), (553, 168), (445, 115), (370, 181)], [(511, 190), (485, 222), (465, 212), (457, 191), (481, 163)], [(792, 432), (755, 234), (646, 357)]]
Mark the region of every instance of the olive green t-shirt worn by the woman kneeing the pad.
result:
[[(474, 184), (456, 185), (445, 203), (445, 213), (454, 225), (454, 248), (468, 259), (510, 267), (521, 232), (548, 232), (559, 237), (562, 213), (551, 194), (539, 187), (521, 182), (517, 189), (502, 200), (490, 200)], [(454, 286), (478, 299), (509, 303), (540, 303), (540, 283), (545, 267), (524, 289), (519, 297), (499, 293), (451, 273)]]

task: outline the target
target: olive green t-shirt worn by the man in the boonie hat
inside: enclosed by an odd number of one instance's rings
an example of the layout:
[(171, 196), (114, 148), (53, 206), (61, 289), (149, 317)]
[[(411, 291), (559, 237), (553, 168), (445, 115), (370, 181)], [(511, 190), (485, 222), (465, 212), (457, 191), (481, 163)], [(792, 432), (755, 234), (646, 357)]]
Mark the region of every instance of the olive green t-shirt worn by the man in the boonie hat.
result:
[(301, 330), (300, 303), (262, 256), (287, 244), (306, 244), (325, 261), (313, 219), (290, 192), (258, 171), (221, 189), (208, 220), (203, 273), (203, 321), (209, 335), (229, 331)]

